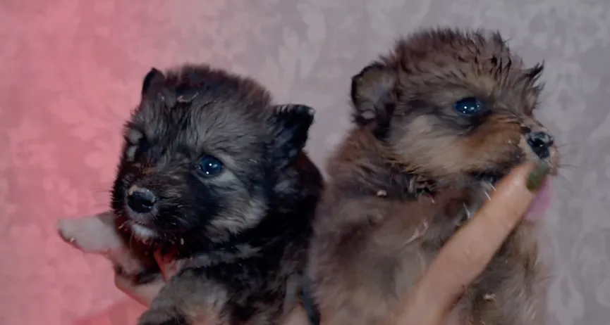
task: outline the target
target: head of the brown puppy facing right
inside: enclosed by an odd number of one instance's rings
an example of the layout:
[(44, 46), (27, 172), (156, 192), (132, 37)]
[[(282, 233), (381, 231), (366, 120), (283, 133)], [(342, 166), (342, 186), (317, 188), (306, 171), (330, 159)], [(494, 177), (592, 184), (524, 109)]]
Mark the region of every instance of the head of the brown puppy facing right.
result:
[(554, 138), (534, 116), (542, 70), (498, 33), (421, 31), (353, 77), (353, 114), (389, 159), (437, 183), (494, 182), (525, 160), (555, 170)]

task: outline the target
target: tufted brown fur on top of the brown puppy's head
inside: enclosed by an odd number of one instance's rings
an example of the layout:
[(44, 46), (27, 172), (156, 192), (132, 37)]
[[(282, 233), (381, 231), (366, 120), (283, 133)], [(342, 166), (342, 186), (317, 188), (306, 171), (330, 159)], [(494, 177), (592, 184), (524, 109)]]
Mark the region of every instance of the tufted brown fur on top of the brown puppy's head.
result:
[(498, 95), (518, 82), (523, 60), (497, 33), (434, 30), (401, 39), (383, 58), (418, 87), (456, 87)]

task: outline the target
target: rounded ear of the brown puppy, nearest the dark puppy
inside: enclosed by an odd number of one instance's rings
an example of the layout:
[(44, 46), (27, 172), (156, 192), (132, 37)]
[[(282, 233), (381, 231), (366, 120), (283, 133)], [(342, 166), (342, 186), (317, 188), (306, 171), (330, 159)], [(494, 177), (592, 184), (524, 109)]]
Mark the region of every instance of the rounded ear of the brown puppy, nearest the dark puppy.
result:
[(369, 65), (353, 76), (351, 98), (355, 122), (387, 127), (394, 113), (395, 84), (396, 73), (380, 63)]

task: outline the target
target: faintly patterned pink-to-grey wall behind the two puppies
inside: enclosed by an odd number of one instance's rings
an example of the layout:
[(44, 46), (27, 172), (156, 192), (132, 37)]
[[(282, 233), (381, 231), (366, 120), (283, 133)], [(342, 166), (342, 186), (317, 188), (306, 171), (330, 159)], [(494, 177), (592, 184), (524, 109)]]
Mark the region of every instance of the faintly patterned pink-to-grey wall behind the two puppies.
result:
[(309, 150), (323, 163), (348, 125), (349, 77), (436, 24), (499, 28), (528, 63), (546, 60), (540, 114), (570, 165), (546, 219), (549, 324), (609, 324), (607, 0), (1, 0), (0, 324), (133, 324), (108, 263), (54, 222), (106, 209), (121, 124), (153, 65), (207, 61), (317, 108)]

